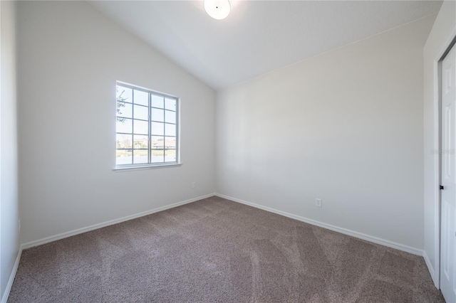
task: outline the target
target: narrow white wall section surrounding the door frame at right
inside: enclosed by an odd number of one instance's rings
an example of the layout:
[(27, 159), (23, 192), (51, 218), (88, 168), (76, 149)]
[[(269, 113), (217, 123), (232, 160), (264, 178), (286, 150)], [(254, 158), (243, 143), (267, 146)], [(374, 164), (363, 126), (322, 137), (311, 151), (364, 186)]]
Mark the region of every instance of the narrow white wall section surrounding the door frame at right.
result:
[[(425, 258), (427, 266), (434, 281), (438, 274), (438, 255), (436, 246), (439, 237), (440, 216), (438, 205), (438, 184), (437, 169), (439, 169), (438, 155), (432, 154), (432, 150), (439, 149), (438, 145), (438, 119), (439, 107), (435, 95), (435, 60), (438, 52), (443, 47), (445, 41), (450, 36), (450, 32), (455, 28), (456, 23), (456, 2), (444, 1), (439, 14), (435, 20), (432, 31), (427, 38), (424, 47), (424, 171), (425, 171)], [(438, 277), (438, 275), (437, 275)]]

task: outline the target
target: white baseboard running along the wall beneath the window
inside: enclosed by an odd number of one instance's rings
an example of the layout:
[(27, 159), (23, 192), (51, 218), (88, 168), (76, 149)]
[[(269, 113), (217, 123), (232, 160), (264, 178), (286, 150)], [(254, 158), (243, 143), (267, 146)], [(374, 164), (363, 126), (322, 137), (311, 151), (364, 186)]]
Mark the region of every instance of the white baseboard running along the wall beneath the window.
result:
[(21, 245), (21, 249), (25, 250), (27, 248), (33, 248), (33, 246), (46, 244), (46, 243), (53, 242), (53, 241), (56, 241), (56, 240), (61, 240), (63, 238), (71, 237), (72, 235), (78, 235), (80, 233), (86, 233), (86, 232), (88, 232), (90, 230), (95, 230), (95, 229), (98, 229), (98, 228), (103, 228), (105, 226), (109, 226), (109, 225), (113, 225), (113, 224), (117, 224), (117, 223), (122, 223), (124, 221), (132, 220), (132, 219), (135, 219), (135, 218), (140, 218), (142, 216), (150, 215), (151, 213), (157, 213), (159, 211), (165, 211), (165, 210), (167, 210), (169, 208), (175, 208), (177, 206), (181, 206), (181, 205), (184, 205), (184, 204), (187, 204), (187, 203), (192, 203), (192, 202), (195, 202), (195, 201), (198, 201), (198, 200), (201, 200), (201, 199), (204, 199), (204, 198), (209, 198), (209, 197), (212, 197), (212, 196), (215, 196), (215, 193), (209, 193), (208, 195), (205, 195), (205, 196), (199, 196), (197, 198), (191, 198), (191, 199), (188, 199), (188, 200), (185, 200), (185, 201), (172, 203), (172, 204), (167, 205), (167, 206), (162, 206), (162, 207), (159, 207), (159, 208), (151, 209), (150, 211), (143, 211), (142, 213), (136, 213), (135, 215), (126, 216), (126, 217), (118, 218), (118, 219), (114, 219), (114, 220), (109, 220), (109, 221), (106, 221), (106, 222), (103, 222), (103, 223), (98, 223), (98, 224), (95, 224), (95, 225), (90, 225), (90, 226), (87, 226), (85, 228), (78, 228), (76, 230), (71, 230), (71, 231), (68, 231), (66, 233), (60, 233), (58, 235), (51, 235), (50, 237), (46, 237), (46, 238), (42, 238), (42, 239), (39, 239), (39, 240), (31, 241), (31, 242), (28, 242), (28, 243), (24, 243), (24, 244)]

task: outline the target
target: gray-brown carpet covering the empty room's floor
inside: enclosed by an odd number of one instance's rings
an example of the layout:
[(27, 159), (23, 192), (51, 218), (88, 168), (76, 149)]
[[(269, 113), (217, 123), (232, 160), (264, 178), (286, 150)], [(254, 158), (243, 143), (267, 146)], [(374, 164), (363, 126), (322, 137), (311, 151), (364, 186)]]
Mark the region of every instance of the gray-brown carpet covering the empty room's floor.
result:
[(24, 250), (8, 302), (444, 302), (423, 257), (212, 197)]

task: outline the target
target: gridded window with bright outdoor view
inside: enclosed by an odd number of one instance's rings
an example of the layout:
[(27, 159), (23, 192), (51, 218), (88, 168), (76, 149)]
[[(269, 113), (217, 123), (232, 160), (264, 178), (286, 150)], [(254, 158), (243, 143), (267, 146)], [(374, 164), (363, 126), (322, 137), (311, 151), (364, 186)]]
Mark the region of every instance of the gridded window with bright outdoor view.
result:
[(117, 83), (116, 168), (179, 163), (179, 99)]

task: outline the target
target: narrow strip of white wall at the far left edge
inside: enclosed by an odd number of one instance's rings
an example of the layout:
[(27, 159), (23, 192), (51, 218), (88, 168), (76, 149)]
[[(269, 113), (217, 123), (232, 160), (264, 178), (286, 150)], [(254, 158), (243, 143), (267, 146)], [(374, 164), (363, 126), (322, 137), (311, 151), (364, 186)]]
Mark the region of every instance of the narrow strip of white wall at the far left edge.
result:
[[(0, 299), (6, 300), (14, 262), (19, 252), (16, 125), (16, 4), (0, 1)], [(10, 285), (11, 286), (11, 285)]]

